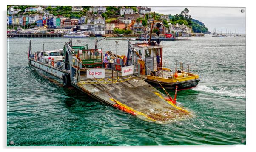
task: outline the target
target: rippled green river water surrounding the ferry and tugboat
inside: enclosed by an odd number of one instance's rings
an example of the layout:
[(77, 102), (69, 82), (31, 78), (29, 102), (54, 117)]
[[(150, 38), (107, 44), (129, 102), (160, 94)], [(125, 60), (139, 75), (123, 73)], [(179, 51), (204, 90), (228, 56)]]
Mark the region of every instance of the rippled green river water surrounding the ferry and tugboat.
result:
[[(66, 38), (31, 38), (32, 50), (63, 48)], [(100, 48), (115, 52), (115, 40)], [(85, 40), (94, 47), (94, 38)], [(171, 124), (143, 121), (70, 87), (63, 88), (28, 66), (28, 38), (8, 39), (8, 146), (245, 144), (245, 38), (194, 37), (165, 41), (163, 60), (198, 65), (201, 81), (178, 92), (195, 117)], [(77, 39), (73, 40), (73, 45)], [(120, 41), (117, 53), (127, 51)], [(125, 53), (126, 54), (126, 53)], [(171, 66), (172, 65), (172, 66)], [(170, 92), (174, 96), (174, 92)], [(11, 144), (9, 144), (11, 143)]]

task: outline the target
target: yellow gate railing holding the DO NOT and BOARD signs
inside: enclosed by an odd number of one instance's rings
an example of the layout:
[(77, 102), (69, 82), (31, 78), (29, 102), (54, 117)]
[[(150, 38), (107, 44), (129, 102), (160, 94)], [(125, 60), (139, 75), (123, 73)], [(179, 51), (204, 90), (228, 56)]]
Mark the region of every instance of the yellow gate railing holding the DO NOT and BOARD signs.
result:
[(105, 76), (103, 78), (88, 78), (87, 71), (90, 71), (91, 68), (80, 68), (78, 71), (78, 82), (82, 84), (94, 84), (94, 83), (118, 83), (135, 78), (139, 76), (140, 66), (138, 64), (131, 65), (133, 66), (133, 73), (128, 75), (122, 75), (123, 68), (119, 67), (117, 69), (106, 68)]

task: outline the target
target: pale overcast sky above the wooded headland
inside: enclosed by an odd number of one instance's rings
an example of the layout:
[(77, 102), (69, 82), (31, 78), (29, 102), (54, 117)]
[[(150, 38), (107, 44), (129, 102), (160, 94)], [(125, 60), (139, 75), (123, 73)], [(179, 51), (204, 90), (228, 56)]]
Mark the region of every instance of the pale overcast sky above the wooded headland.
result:
[(149, 7), (151, 11), (160, 14), (180, 14), (184, 8), (188, 8), (192, 18), (205, 24), (208, 31), (214, 29), (218, 33), (232, 31), (234, 33), (245, 33), (245, 12), (241, 13), (243, 7)]

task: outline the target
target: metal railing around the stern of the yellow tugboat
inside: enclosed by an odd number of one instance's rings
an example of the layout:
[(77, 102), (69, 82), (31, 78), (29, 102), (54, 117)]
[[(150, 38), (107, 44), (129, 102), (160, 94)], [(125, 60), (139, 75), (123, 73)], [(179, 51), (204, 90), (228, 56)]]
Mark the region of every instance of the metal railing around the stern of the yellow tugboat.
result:
[(188, 64), (188, 63), (183, 63), (183, 62), (176, 62), (176, 68), (175, 68), (176, 73), (188, 73), (188, 76), (190, 76), (191, 72), (192, 73), (197, 73), (197, 65), (193, 64)]

